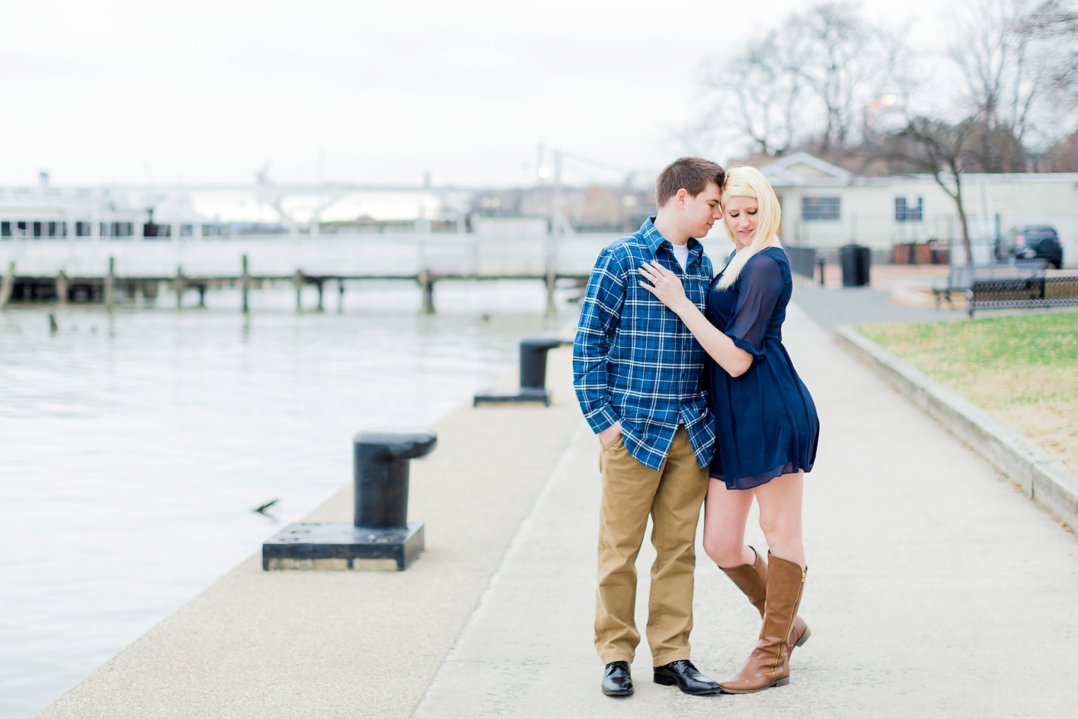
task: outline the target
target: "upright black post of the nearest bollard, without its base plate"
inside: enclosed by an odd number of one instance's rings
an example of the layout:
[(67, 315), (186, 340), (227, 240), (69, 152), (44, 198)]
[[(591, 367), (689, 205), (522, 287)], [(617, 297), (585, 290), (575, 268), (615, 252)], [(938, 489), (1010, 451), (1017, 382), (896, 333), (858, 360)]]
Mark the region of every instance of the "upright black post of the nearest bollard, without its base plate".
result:
[(434, 432), (373, 431), (353, 438), (355, 520), (357, 527), (407, 526), (409, 460), (425, 457), (438, 444)]

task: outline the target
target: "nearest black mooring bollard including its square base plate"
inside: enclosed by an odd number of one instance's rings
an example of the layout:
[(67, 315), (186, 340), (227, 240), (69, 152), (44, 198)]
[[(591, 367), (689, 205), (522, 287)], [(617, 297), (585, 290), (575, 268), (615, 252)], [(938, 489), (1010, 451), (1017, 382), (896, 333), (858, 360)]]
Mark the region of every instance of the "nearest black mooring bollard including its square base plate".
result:
[(429, 429), (356, 434), (353, 522), (285, 527), (263, 542), (262, 568), (406, 569), (425, 543), (423, 524), (407, 521), (409, 461), (437, 445)]

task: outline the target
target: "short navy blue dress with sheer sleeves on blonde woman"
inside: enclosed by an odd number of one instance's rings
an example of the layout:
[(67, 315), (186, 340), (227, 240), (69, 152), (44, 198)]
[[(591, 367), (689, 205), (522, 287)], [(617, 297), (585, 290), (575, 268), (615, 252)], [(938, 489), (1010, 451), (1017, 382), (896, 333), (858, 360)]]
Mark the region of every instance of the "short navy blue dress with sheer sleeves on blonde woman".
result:
[(812, 469), (819, 418), (783, 346), (793, 292), (786, 252), (769, 247), (752, 255), (724, 290), (716, 287), (719, 277), (707, 292), (707, 319), (752, 355), (752, 364), (740, 377), (714, 360), (707, 364), (716, 440), (710, 474), (728, 489), (750, 489)]

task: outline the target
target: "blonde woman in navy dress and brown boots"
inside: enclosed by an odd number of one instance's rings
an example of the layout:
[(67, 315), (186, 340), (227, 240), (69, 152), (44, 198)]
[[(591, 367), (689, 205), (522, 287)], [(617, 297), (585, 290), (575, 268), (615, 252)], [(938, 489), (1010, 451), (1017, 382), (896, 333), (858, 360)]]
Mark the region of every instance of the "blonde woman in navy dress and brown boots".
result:
[[(735, 167), (722, 189), (735, 253), (715, 278), (707, 315), (686, 299), (677, 276), (651, 262), (640, 286), (677, 313), (713, 362), (707, 368), (716, 454), (704, 510), (704, 549), (760, 610), (759, 641), (742, 670), (721, 681), (742, 694), (789, 683), (789, 654), (808, 638), (797, 616), (805, 580), (801, 542), (804, 472), (816, 458), (816, 406), (782, 343), (792, 291), (778, 241), (778, 199), (756, 168)], [(649, 284), (650, 282), (650, 284)], [(770, 567), (745, 545), (756, 498)]]

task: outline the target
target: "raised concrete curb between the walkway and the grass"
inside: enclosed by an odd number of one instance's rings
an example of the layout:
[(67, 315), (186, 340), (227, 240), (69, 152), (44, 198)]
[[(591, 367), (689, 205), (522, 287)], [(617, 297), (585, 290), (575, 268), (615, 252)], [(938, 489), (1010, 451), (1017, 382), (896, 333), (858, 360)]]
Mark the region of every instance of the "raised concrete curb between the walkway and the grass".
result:
[(853, 328), (837, 328), (834, 342), (987, 459), (1053, 516), (1078, 529), (1078, 473)]

